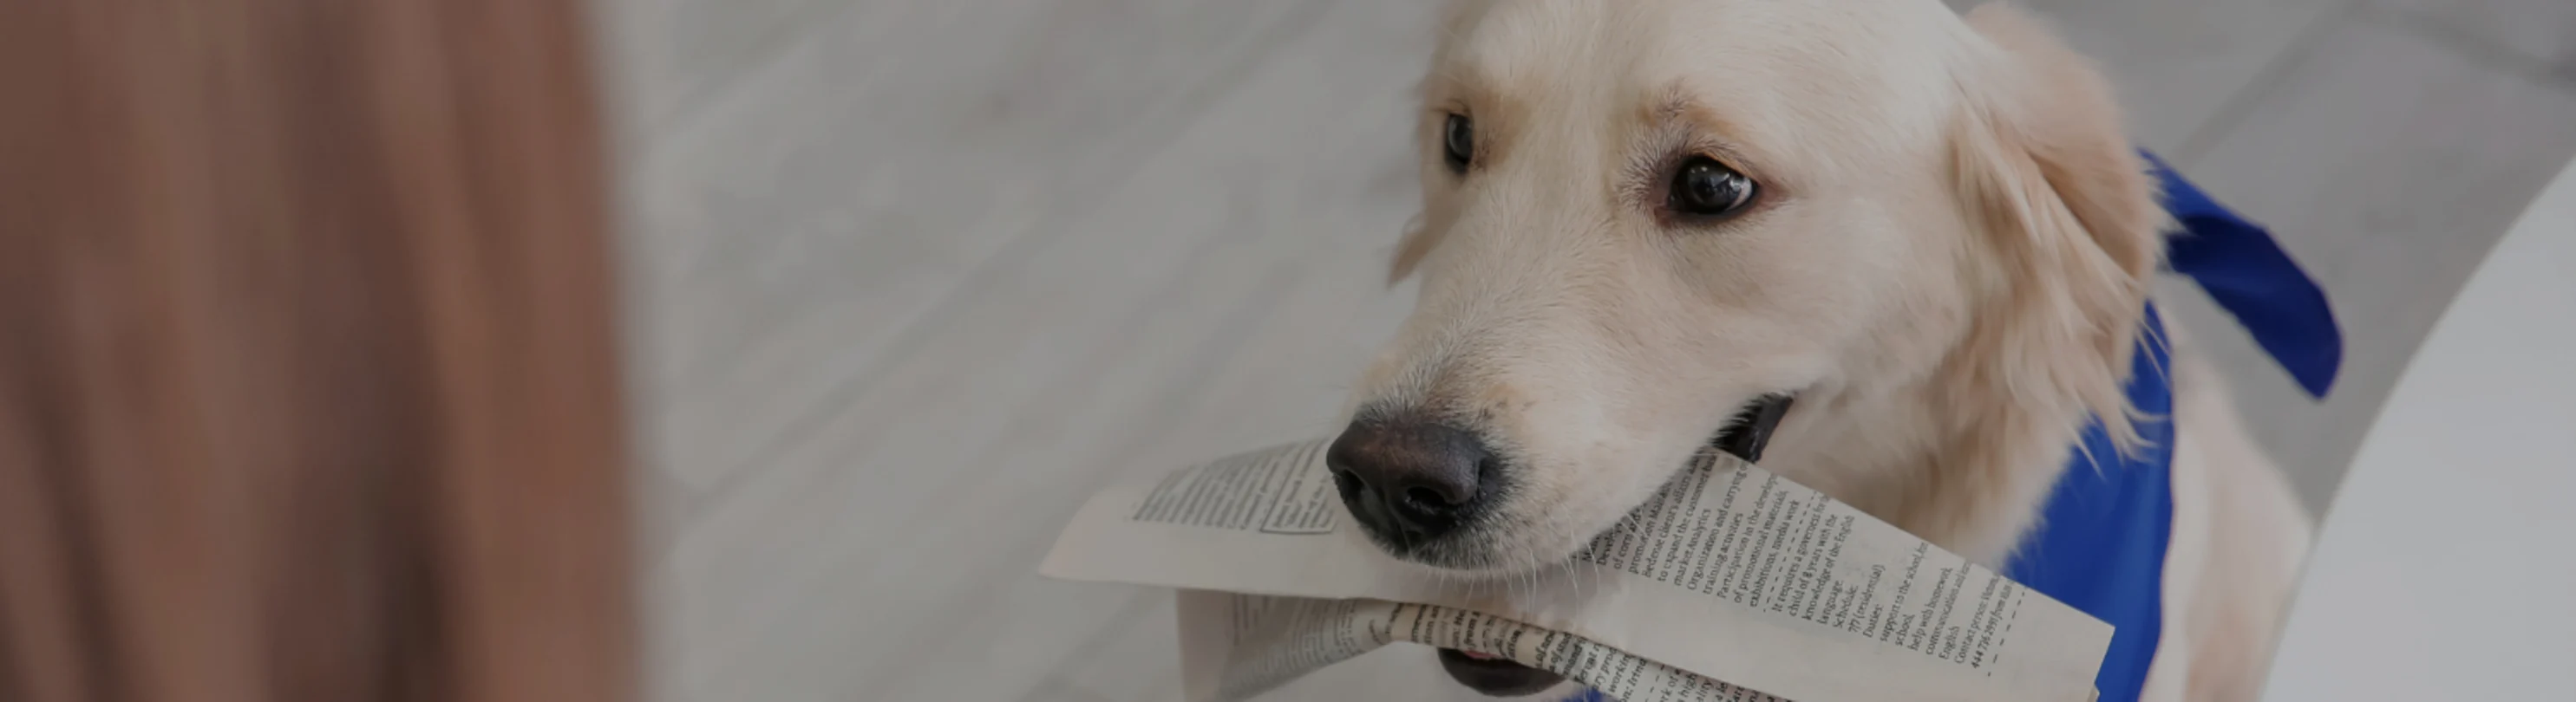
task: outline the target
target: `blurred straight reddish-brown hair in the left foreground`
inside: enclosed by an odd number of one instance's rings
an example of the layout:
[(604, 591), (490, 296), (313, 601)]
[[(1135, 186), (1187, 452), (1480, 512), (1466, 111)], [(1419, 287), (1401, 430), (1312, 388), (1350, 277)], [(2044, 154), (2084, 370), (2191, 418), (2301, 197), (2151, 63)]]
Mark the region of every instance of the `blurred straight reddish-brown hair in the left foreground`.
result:
[(567, 0), (0, 0), (0, 699), (626, 699)]

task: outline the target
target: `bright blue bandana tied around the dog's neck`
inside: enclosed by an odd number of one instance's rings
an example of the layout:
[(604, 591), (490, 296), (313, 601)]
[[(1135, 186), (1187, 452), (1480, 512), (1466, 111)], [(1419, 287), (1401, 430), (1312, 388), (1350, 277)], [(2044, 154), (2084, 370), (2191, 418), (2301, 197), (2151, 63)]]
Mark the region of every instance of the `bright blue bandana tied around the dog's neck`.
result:
[[(2146, 154), (2164, 185), (2164, 208), (2182, 224), (2166, 239), (2166, 267), (2200, 283), (2254, 342), (2311, 396), (2326, 396), (2344, 363), (2344, 332), (2326, 291), (2262, 226), (2244, 221)], [(2164, 319), (2146, 309), (2130, 360), (2128, 401), (2143, 445), (2123, 455), (2094, 422), (2066, 473), (2040, 507), (2040, 525), (2004, 563), (2004, 576), (2112, 625), (2110, 653), (2094, 674), (2099, 702), (2133, 702), (2146, 687), (2164, 630), (2164, 545), (2174, 522), (2172, 445), (2174, 383)], [(1610, 702), (1597, 689), (1569, 702)]]

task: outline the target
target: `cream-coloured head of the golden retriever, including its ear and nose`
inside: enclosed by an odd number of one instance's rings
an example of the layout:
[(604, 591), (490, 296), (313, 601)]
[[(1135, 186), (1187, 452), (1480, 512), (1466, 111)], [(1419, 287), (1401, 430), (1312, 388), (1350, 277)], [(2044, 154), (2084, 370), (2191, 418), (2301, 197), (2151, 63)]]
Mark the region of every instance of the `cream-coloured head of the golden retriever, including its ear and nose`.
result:
[(1770, 393), (2125, 427), (2164, 216), (2102, 80), (2009, 10), (1455, 3), (1417, 141), (1419, 301), (1329, 453), (1404, 561), (1558, 563)]

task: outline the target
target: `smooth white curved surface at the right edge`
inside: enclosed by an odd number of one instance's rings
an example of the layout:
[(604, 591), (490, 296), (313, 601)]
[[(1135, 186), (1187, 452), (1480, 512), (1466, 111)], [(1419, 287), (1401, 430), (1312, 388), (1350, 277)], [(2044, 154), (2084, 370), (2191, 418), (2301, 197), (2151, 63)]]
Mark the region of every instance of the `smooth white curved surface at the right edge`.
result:
[(2362, 440), (2264, 699), (2576, 699), (2571, 350), (2576, 165), (2468, 280)]

